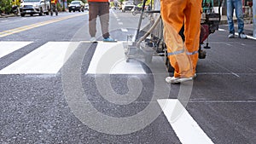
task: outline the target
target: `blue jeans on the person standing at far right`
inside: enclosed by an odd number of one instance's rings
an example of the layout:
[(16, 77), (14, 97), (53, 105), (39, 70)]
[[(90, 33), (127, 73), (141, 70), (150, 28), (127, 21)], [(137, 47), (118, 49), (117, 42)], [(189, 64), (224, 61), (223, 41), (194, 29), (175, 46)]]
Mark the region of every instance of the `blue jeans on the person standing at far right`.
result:
[(227, 17), (228, 17), (230, 33), (235, 33), (234, 21), (233, 21), (234, 9), (236, 12), (238, 33), (241, 33), (243, 32), (243, 26), (244, 26), (241, 0), (227, 0)]

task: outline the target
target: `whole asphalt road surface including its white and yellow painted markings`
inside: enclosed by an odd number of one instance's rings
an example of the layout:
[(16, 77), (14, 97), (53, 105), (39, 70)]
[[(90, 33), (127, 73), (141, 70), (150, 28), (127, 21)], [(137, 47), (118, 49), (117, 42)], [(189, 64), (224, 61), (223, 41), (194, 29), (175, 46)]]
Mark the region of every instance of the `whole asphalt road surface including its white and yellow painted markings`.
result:
[(139, 16), (110, 17), (115, 43), (99, 25), (90, 43), (86, 11), (0, 19), (0, 143), (255, 143), (255, 39), (220, 26), (195, 80), (170, 85), (163, 57), (125, 61)]

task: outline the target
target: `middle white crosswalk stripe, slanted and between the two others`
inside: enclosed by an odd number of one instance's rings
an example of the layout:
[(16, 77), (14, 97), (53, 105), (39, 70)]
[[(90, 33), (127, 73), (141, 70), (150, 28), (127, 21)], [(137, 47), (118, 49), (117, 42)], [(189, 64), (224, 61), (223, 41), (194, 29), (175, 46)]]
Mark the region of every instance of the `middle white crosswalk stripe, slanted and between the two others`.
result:
[(55, 74), (73, 54), (78, 42), (49, 42), (3, 68), (0, 74)]

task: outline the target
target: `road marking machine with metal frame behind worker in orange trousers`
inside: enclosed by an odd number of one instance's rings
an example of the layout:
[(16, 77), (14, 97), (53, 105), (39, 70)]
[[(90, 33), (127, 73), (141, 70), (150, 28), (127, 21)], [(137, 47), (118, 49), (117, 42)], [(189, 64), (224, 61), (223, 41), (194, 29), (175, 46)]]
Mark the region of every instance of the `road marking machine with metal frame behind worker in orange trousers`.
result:
[[(143, 0), (143, 8), (145, 7), (146, 0)], [(221, 19), (220, 7), (222, 0), (218, 0), (218, 12), (213, 9), (213, 0), (203, 0), (202, 14), (201, 14), (201, 36), (200, 36), (200, 47), (198, 49), (199, 59), (206, 58), (206, 50), (210, 49), (208, 45), (208, 36), (218, 30), (218, 24)], [(153, 9), (142, 9), (137, 32), (135, 35), (127, 36), (127, 43), (125, 43), (125, 57), (126, 62), (130, 59), (139, 58), (144, 59), (146, 63), (150, 63), (154, 55), (165, 56), (166, 67), (169, 72), (172, 71), (172, 66), (167, 58), (166, 43), (163, 38), (163, 23), (160, 16), (160, 0), (151, 1), (151, 6), (149, 8)], [(149, 14), (148, 25), (141, 29), (143, 14)], [(183, 28), (179, 32), (180, 36), (184, 40)], [(202, 45), (207, 40), (206, 46), (202, 48)]]

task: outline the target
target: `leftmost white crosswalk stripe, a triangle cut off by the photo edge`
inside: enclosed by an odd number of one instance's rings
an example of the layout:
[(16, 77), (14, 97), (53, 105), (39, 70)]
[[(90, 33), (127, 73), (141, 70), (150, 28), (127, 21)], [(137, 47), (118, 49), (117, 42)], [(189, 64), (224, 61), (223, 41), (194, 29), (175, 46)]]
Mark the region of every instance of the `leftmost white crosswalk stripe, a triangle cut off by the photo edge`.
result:
[(0, 42), (0, 58), (9, 55), (17, 49), (25, 47), (32, 42)]

